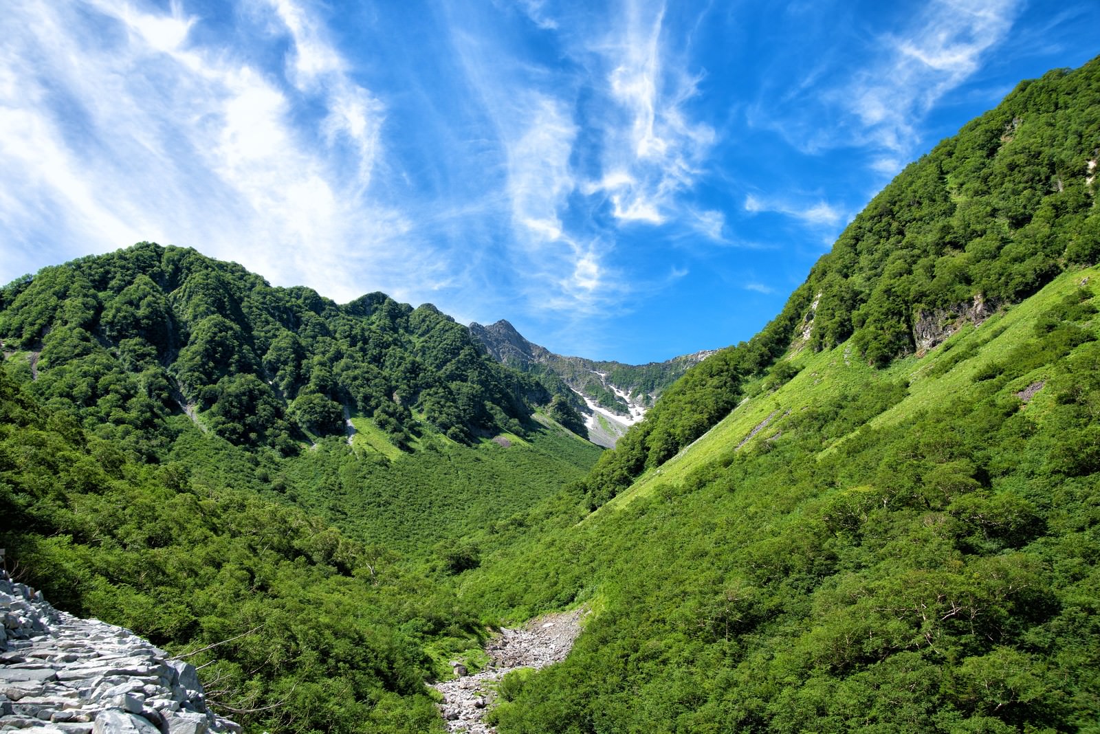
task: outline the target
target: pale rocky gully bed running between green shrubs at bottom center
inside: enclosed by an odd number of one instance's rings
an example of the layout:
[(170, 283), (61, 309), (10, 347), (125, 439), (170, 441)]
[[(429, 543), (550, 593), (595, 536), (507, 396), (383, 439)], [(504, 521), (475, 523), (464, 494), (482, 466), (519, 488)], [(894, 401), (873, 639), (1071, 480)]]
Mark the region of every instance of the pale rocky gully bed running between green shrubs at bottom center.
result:
[(494, 734), (496, 730), (484, 722), (484, 716), (493, 704), (497, 682), (513, 670), (538, 669), (564, 659), (581, 634), (581, 620), (586, 613), (582, 608), (544, 614), (519, 629), (502, 629), (485, 645), (490, 664), (483, 670), (466, 674), (464, 666), (455, 665), (457, 678), (432, 686), (443, 694), (439, 708), (447, 731)]

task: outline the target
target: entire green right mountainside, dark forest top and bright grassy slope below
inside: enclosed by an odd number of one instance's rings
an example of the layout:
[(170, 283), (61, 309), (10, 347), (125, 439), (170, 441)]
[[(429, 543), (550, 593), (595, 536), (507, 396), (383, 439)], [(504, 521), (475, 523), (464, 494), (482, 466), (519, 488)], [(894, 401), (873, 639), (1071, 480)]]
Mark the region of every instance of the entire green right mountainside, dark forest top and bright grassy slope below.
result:
[(913, 164), (464, 574), (594, 611), (502, 734), (1096, 729), (1098, 90), (1021, 85)]

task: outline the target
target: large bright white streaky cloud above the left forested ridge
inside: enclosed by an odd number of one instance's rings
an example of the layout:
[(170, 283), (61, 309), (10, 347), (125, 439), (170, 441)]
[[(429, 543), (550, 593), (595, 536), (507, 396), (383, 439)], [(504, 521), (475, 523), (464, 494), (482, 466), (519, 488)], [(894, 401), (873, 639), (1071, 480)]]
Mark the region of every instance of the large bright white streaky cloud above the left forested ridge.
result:
[[(0, 220), (12, 246), (62, 241), (74, 256), (138, 240), (193, 245), (341, 300), (414, 264), (430, 278), (431, 253), (394, 246), (407, 218), (365, 196), (381, 103), (306, 9), (257, 10), (289, 37), (289, 86), (194, 45), (202, 20), (178, 4), (10, 8), (0, 79), (18, 81), (0, 84)], [(322, 116), (294, 120), (300, 98)]]

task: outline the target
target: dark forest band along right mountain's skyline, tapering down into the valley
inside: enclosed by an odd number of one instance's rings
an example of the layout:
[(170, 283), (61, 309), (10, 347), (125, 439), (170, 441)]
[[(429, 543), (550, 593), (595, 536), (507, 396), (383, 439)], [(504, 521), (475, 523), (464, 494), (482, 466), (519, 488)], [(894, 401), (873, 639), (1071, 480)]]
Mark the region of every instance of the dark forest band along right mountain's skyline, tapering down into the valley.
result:
[(590, 507), (703, 435), (789, 348), (850, 341), (882, 367), (1097, 262), (1098, 158), (1100, 59), (1021, 82), (875, 197), (763, 331), (670, 388), (586, 480)]

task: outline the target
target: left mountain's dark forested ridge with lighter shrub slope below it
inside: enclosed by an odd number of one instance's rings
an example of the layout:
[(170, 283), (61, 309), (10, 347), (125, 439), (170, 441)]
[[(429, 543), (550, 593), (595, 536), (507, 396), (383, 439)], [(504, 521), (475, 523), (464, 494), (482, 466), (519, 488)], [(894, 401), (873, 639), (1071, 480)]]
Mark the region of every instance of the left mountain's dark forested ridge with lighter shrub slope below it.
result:
[(524, 512), (598, 455), (532, 421), (556, 414), (551, 392), (431, 305), (338, 305), (193, 249), (143, 243), (10, 283), (0, 338), (30, 394), (135, 458), (403, 553)]

